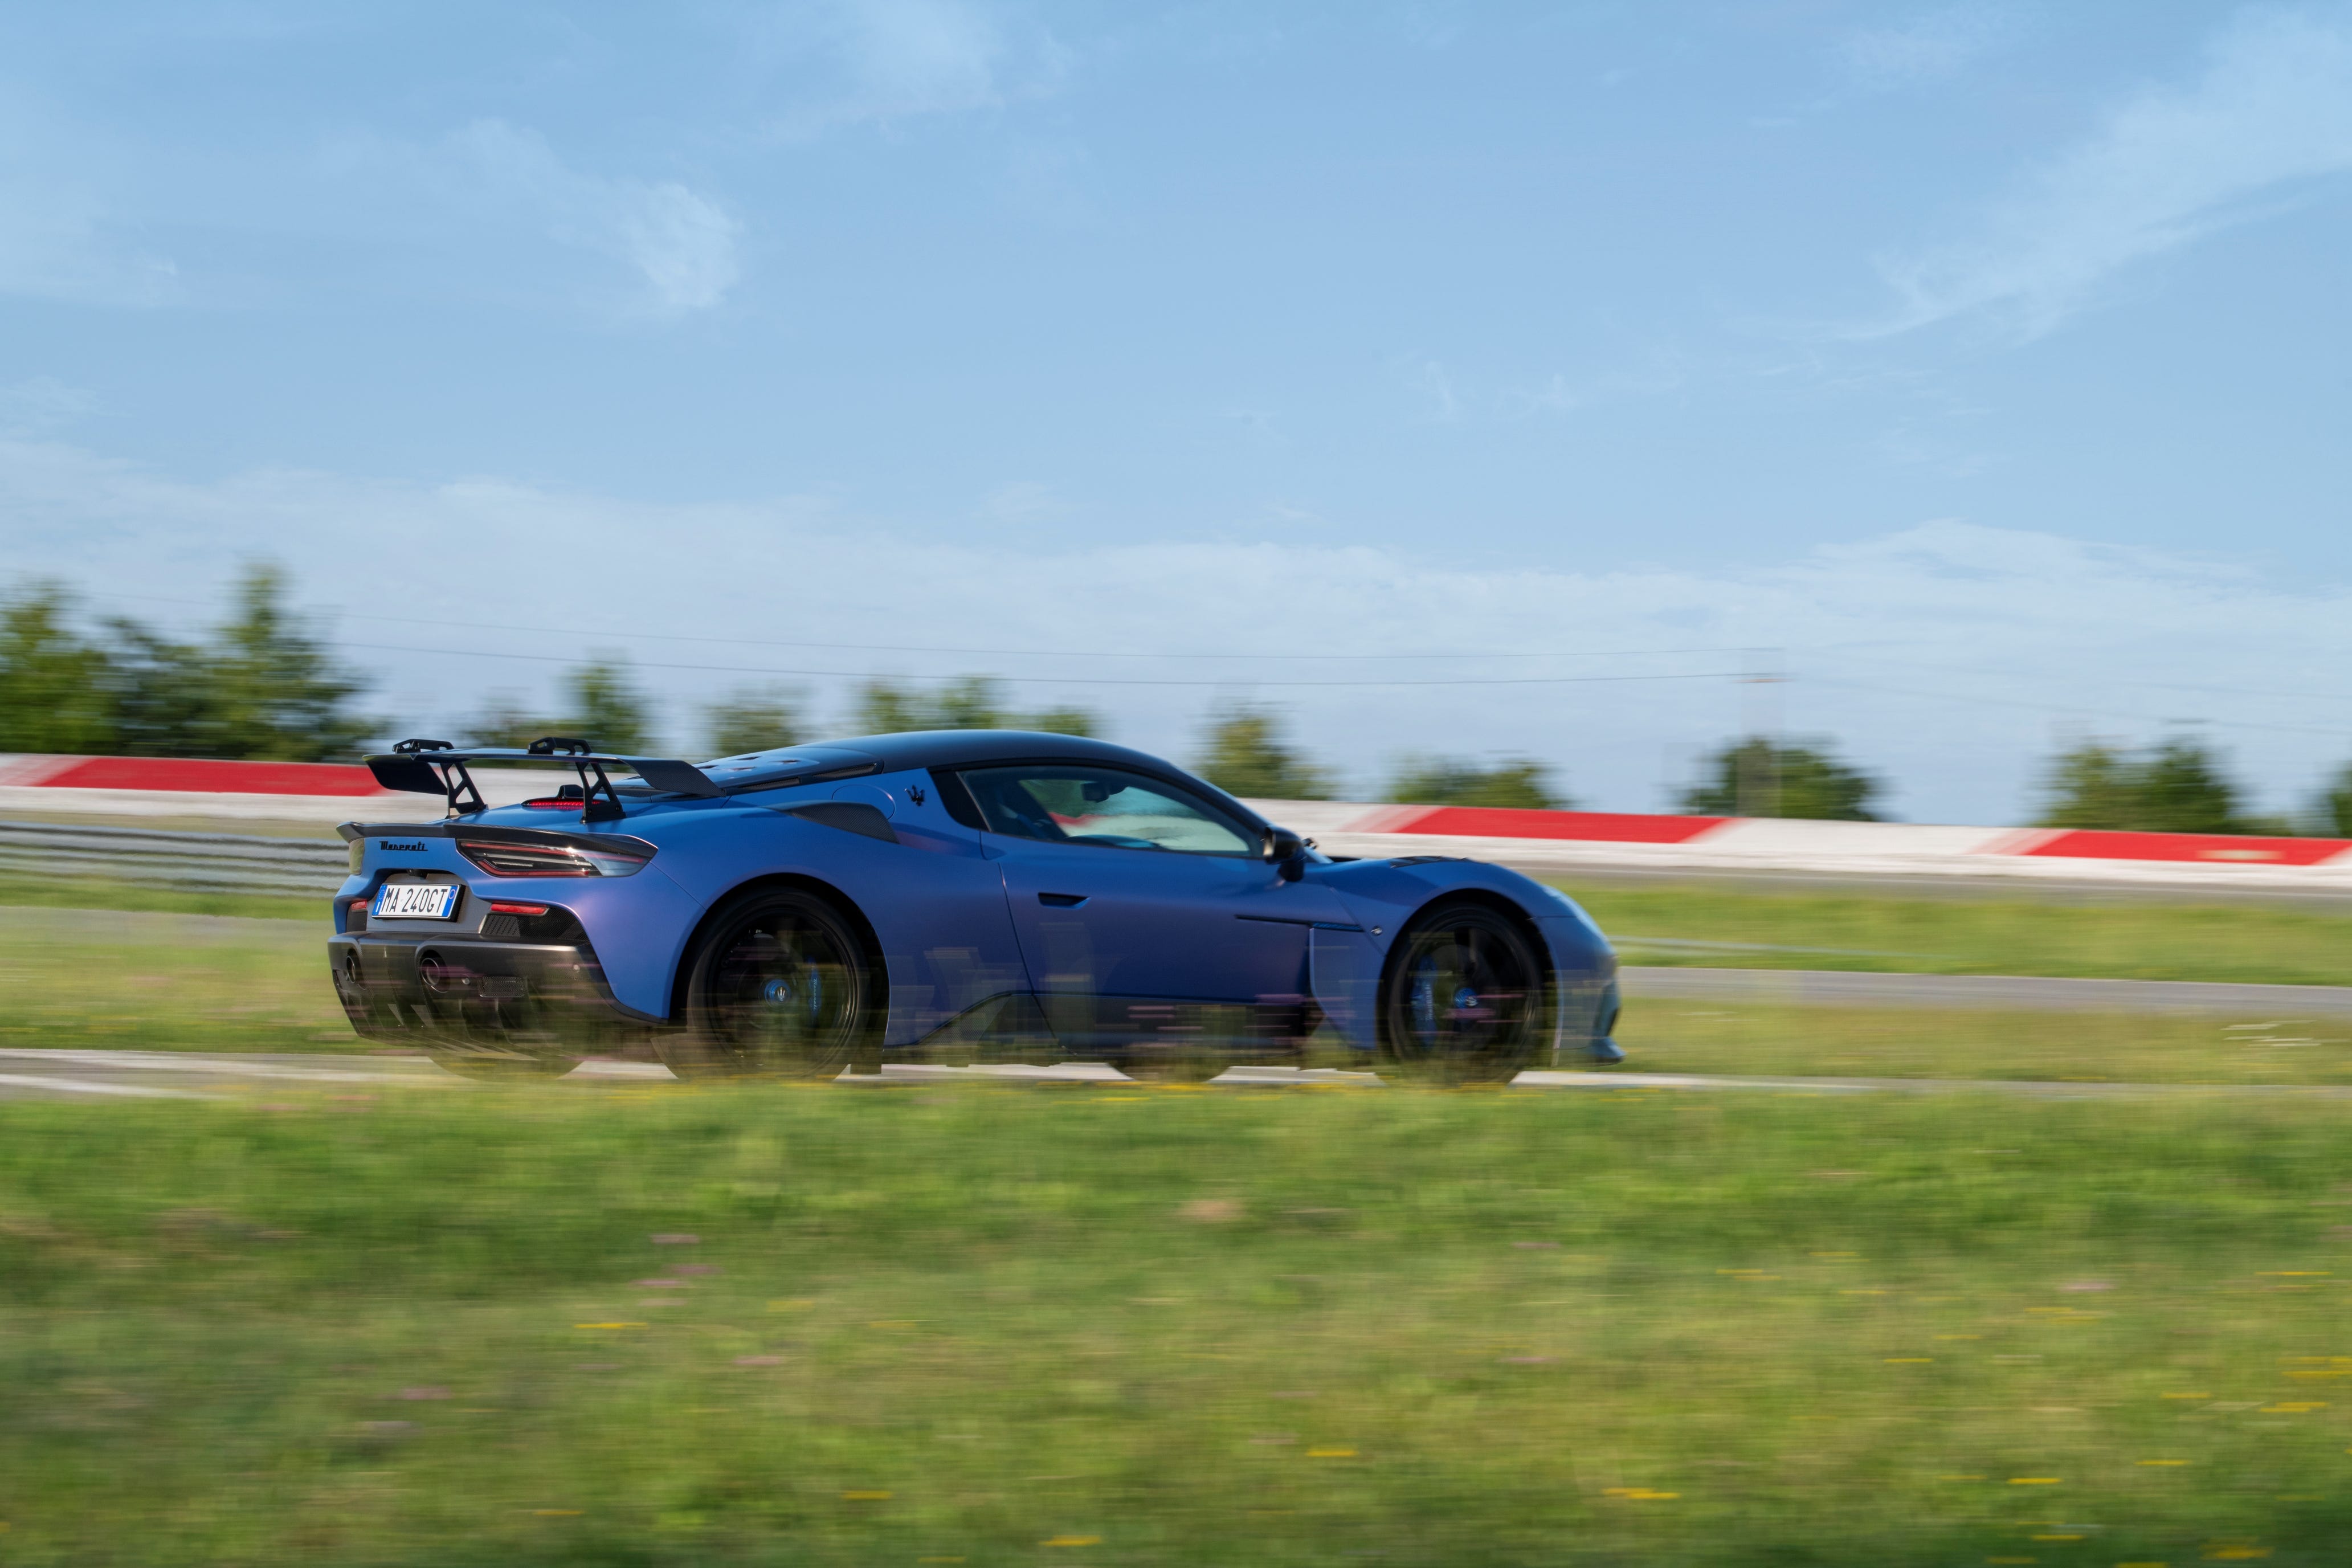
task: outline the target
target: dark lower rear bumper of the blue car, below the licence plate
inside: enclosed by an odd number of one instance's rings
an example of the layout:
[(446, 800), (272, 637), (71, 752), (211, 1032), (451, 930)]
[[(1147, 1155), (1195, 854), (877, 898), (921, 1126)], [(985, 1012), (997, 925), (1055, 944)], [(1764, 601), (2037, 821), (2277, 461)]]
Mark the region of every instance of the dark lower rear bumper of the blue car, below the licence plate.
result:
[(654, 1023), (614, 1001), (586, 943), (485, 943), (456, 933), (327, 940), (350, 1027), (454, 1051), (597, 1051)]

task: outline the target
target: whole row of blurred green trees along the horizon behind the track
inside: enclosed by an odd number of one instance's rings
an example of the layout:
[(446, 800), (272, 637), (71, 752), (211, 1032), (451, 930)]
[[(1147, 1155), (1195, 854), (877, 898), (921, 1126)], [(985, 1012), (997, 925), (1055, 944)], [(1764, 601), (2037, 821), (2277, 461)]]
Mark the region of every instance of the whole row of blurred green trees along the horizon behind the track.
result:
[[(195, 639), (129, 616), (87, 625), (61, 583), (24, 583), (0, 602), (0, 752), (113, 757), (242, 757), (346, 762), (386, 736), (360, 708), (365, 679), (289, 607), (285, 574), (249, 567), (228, 614)], [(1096, 736), (1089, 708), (1021, 710), (1002, 682), (971, 675), (931, 686), (863, 682), (844, 724), (818, 726), (793, 686), (743, 686), (701, 708), (701, 755), (731, 757), (823, 733), (906, 729), (1042, 729)], [(494, 693), (449, 736), (466, 745), (522, 745), (588, 736), (614, 752), (647, 752), (654, 715), (616, 656), (588, 658), (557, 682), (553, 710)], [(1251, 799), (1336, 799), (1341, 783), (1289, 738), (1282, 715), (1249, 703), (1214, 712), (1190, 759), (1202, 778)], [(1534, 757), (1409, 755), (1378, 795), (1399, 804), (1569, 809), (1576, 802)], [(1677, 809), (1696, 816), (1879, 820), (1879, 776), (1844, 762), (1823, 738), (1748, 736), (1700, 762)], [(2082, 741), (2051, 759), (2042, 825), (2140, 832), (2352, 837), (2352, 766), (2298, 818), (2246, 806), (2220, 755), (2192, 736), (2152, 748)]]

